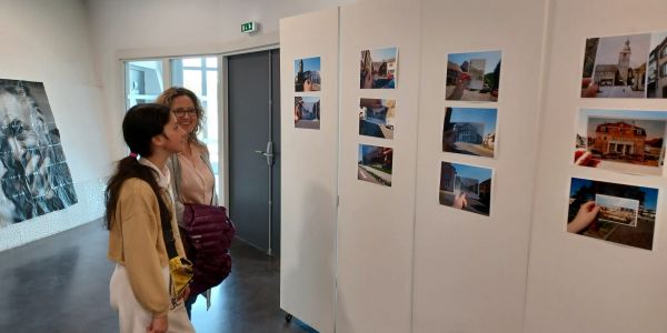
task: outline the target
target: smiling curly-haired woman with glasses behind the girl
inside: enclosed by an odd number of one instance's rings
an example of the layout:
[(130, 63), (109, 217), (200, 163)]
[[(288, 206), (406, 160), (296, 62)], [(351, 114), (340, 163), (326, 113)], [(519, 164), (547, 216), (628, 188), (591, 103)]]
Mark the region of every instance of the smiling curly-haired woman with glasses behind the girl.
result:
[[(175, 154), (167, 162), (171, 171), (171, 190), (176, 203), (176, 216), (179, 223), (180, 233), (186, 235), (183, 229), (183, 204), (217, 204), (215, 192), (216, 178), (209, 159), (209, 151), (206, 144), (197, 139), (197, 133), (201, 130), (203, 123), (203, 109), (197, 95), (180, 87), (172, 87), (156, 101), (159, 104), (168, 107), (176, 115), (178, 124), (187, 133), (187, 142), (182, 152)], [(189, 243), (188, 238), (183, 236), (183, 245), (188, 258), (195, 261), (195, 248)], [(200, 263), (201, 264), (201, 263)], [(210, 291), (206, 293), (209, 294)], [(190, 294), (186, 300), (188, 316), (191, 317), (192, 304), (197, 300), (197, 293)], [(208, 296), (210, 300), (210, 295)]]

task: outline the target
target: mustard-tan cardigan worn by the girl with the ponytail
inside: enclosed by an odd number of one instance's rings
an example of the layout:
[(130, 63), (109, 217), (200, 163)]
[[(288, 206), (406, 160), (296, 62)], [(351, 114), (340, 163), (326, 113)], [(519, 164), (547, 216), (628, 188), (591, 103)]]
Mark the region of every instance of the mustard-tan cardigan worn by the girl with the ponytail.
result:
[[(171, 211), (171, 230), (176, 251), (183, 251), (173, 204), (167, 191), (165, 203)], [(155, 316), (169, 312), (169, 289), (165, 285), (161, 269), (169, 265), (158, 199), (150, 185), (140, 179), (128, 179), (120, 188), (118, 203), (109, 231), (109, 260), (126, 266), (135, 297)]]

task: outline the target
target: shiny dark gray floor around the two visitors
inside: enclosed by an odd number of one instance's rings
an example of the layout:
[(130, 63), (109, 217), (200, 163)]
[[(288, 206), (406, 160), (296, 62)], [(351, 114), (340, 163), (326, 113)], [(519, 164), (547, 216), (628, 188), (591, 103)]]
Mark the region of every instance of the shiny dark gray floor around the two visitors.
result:
[[(0, 252), (0, 332), (118, 332), (109, 306), (113, 264), (101, 221)], [(211, 309), (192, 310), (197, 332), (317, 332), (279, 309), (277, 260), (235, 241), (231, 275), (213, 290)]]

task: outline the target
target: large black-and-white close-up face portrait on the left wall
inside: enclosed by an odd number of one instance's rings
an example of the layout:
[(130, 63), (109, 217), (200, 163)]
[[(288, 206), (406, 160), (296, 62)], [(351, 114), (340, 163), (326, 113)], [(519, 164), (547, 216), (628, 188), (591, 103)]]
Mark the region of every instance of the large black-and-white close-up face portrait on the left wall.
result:
[(77, 203), (41, 82), (0, 79), (0, 228)]

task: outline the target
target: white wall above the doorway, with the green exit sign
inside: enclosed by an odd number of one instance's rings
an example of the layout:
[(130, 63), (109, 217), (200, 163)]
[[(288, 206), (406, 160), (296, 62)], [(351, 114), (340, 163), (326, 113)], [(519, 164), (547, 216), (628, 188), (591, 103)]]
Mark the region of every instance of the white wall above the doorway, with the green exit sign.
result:
[[(277, 43), (280, 18), (351, 1), (87, 0), (109, 123), (119, 128), (125, 112), (119, 58), (226, 53)], [(242, 33), (241, 23), (247, 21), (259, 22), (260, 32)], [(311, 24), (317, 27), (317, 22)], [(110, 140), (115, 157), (122, 157), (120, 132), (111, 132)]]

